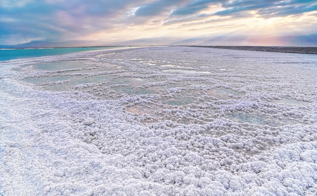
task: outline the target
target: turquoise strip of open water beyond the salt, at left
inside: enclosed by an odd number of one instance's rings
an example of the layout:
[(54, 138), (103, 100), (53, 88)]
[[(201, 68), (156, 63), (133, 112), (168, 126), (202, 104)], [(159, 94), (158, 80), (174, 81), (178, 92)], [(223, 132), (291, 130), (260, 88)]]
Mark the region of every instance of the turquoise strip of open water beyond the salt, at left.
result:
[(66, 55), (83, 51), (110, 50), (121, 47), (58, 47), (58, 48), (14, 48), (0, 49), (0, 61), (12, 59), (24, 59), (32, 57), (45, 57), (54, 55)]

